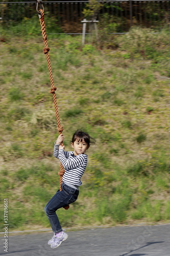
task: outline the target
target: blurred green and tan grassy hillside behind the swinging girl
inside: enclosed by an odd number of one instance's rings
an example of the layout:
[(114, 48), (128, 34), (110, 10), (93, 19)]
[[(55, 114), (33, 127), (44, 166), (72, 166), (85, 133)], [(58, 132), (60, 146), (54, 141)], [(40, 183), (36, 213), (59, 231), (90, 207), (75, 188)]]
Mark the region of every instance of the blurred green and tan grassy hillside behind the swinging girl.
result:
[[(58, 210), (63, 227), (169, 221), (169, 37), (133, 28), (84, 47), (79, 36), (48, 37), (65, 148), (77, 129), (96, 139), (78, 201)], [(42, 36), (3, 32), (0, 44), (1, 202), (11, 230), (50, 227), (43, 208), (60, 163)]]

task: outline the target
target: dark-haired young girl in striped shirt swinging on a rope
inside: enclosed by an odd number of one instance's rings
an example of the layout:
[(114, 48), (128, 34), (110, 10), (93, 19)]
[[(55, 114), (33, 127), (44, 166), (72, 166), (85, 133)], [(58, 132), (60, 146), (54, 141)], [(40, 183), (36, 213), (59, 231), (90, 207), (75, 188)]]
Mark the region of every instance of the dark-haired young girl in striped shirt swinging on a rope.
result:
[(64, 136), (60, 134), (54, 145), (54, 156), (59, 158), (65, 173), (62, 177), (62, 190), (58, 190), (52, 199), (46, 204), (44, 211), (54, 232), (54, 236), (48, 241), (51, 248), (58, 247), (68, 238), (62, 230), (56, 210), (74, 203), (79, 195), (79, 186), (82, 184), (81, 177), (87, 166), (87, 155), (85, 154), (90, 144), (95, 142), (87, 133), (76, 131), (72, 136), (71, 146), (74, 152), (64, 151), (64, 146), (60, 144), (64, 141)]

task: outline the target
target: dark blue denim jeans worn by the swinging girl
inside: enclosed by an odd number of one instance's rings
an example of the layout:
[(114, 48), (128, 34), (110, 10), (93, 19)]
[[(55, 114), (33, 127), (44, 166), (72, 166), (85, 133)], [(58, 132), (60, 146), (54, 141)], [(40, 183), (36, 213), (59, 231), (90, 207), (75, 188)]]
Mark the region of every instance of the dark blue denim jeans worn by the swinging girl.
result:
[(63, 206), (74, 203), (79, 195), (78, 189), (67, 186), (66, 184), (62, 183), (61, 188), (62, 190), (58, 190), (44, 208), (45, 214), (50, 221), (54, 233), (62, 231), (56, 210)]

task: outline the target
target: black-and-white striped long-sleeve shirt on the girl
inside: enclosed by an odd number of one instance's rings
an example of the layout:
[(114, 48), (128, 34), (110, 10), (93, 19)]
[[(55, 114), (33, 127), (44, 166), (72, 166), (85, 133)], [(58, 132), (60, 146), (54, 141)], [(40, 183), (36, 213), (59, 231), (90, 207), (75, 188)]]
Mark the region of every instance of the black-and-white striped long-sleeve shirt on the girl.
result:
[(72, 185), (80, 186), (82, 184), (81, 177), (87, 166), (87, 155), (74, 155), (72, 151), (59, 150), (60, 144), (54, 144), (54, 156), (59, 158), (65, 173), (62, 180)]

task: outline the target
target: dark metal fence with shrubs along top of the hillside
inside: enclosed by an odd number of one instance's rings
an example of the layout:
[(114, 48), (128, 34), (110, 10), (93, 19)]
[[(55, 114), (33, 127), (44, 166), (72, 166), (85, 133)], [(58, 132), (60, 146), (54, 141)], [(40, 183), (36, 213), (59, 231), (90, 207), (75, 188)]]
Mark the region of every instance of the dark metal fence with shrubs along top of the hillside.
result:
[[(169, 26), (170, 0), (112, 0), (98, 1), (98, 28), (107, 33), (126, 33), (136, 25), (158, 31)], [(54, 33), (82, 33), (83, 11), (88, 1), (42, 2), (46, 17), (51, 18)], [(18, 25), (36, 15), (35, 2), (0, 2), (0, 23), (4, 27)], [(37, 18), (37, 16), (36, 16)], [(55, 24), (55, 25), (54, 25)]]

